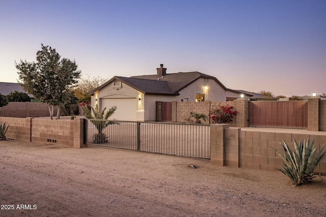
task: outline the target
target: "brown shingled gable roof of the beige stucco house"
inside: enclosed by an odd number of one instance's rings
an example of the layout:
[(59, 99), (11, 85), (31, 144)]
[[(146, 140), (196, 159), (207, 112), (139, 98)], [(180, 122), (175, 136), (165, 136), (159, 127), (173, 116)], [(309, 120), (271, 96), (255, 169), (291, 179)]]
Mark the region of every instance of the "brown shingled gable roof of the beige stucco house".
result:
[(131, 76), (130, 78), (115, 76), (101, 86), (89, 91), (88, 94), (92, 95), (96, 90), (102, 88), (108, 83), (114, 80), (119, 80), (137, 89), (138, 91), (143, 92), (143, 94), (179, 95), (180, 90), (200, 78), (213, 79), (218, 82), (224, 89), (228, 89), (215, 77), (200, 72), (179, 72), (166, 74), (161, 77), (158, 77), (157, 74)]

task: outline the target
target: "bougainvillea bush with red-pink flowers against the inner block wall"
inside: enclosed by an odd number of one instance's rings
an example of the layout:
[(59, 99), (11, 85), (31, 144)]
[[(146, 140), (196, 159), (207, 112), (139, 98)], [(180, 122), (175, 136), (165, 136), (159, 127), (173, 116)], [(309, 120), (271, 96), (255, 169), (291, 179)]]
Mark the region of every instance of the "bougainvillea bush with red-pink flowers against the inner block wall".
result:
[(237, 111), (233, 111), (232, 108), (233, 106), (229, 105), (212, 105), (212, 108), (209, 111), (212, 123), (229, 123), (232, 121), (233, 116), (237, 113)]

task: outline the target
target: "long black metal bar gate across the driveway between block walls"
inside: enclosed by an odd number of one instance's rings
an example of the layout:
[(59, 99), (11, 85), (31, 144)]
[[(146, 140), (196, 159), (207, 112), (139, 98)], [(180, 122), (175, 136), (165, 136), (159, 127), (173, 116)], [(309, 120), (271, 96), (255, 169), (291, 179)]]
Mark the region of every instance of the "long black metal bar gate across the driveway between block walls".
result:
[(85, 143), (210, 158), (209, 125), (85, 119)]

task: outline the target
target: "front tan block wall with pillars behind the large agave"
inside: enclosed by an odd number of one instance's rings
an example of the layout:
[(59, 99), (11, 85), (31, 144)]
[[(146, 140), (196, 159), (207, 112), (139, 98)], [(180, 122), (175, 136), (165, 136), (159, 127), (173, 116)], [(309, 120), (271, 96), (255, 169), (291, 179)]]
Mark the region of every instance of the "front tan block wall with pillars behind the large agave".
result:
[[(326, 143), (326, 133), (305, 130), (230, 128), (227, 124), (210, 126), (210, 163), (218, 166), (250, 168), (276, 171), (281, 168), (282, 159), (275, 150), (283, 153), (282, 139), (291, 150), (293, 138), (315, 141), (317, 151)], [(283, 142), (282, 142), (283, 143)], [(326, 159), (323, 159), (315, 172), (326, 175)]]

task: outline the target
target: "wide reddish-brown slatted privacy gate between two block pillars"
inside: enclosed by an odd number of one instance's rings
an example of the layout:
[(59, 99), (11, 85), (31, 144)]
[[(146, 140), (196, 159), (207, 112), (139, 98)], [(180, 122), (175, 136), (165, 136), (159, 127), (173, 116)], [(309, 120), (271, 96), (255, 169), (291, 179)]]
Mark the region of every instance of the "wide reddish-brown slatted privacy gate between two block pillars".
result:
[(249, 127), (308, 128), (308, 102), (249, 102)]

